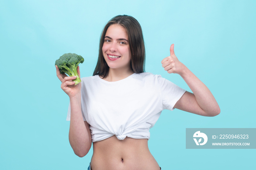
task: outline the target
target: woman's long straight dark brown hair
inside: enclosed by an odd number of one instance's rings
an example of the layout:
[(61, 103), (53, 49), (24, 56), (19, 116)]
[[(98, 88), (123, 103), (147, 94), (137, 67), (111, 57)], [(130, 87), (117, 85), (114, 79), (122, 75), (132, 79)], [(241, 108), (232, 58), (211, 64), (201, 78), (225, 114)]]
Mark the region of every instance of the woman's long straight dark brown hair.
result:
[(142, 34), (142, 28), (140, 27), (139, 22), (129, 15), (117, 15), (106, 24), (102, 33), (101, 39), (99, 42), (99, 57), (98, 62), (93, 72), (93, 76), (101, 75), (103, 78), (108, 76), (109, 66), (106, 63), (103, 54), (102, 46), (105, 39), (105, 34), (108, 30), (108, 27), (118, 24), (125, 28), (128, 34), (129, 47), (131, 51), (131, 67), (135, 73), (145, 72), (145, 45)]

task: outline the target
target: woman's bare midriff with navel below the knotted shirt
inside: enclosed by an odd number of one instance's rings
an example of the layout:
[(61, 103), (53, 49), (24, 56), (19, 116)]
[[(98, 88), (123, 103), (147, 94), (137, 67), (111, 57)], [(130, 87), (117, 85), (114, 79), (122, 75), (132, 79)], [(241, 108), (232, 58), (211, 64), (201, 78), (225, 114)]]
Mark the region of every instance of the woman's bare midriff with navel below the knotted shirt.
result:
[(91, 170), (160, 170), (148, 149), (147, 139), (126, 137), (118, 140), (116, 136), (93, 142)]

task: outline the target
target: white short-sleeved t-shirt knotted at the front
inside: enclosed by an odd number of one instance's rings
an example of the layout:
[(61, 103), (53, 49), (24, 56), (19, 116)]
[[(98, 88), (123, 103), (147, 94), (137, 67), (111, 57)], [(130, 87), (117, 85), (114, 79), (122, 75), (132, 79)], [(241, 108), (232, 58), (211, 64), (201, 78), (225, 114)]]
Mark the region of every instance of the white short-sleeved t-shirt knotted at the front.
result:
[[(185, 90), (160, 75), (133, 73), (109, 82), (98, 75), (81, 78), (81, 108), (90, 124), (92, 142), (113, 135), (149, 139), (149, 129), (163, 109), (173, 110)], [(70, 105), (67, 120), (70, 120)]]

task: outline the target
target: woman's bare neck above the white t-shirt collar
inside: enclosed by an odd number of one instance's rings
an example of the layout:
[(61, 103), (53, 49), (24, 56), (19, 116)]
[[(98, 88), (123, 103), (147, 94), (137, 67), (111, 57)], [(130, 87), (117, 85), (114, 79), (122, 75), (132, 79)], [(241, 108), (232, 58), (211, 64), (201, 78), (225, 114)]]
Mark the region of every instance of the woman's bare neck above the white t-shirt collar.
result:
[(124, 78), (127, 78), (128, 76), (131, 76), (133, 73), (134, 72), (133, 72), (132, 69), (123, 70), (123, 69), (111, 69), (111, 68), (109, 68), (108, 76), (106, 78), (104, 78), (103, 80), (119, 81), (119, 80), (122, 80)]

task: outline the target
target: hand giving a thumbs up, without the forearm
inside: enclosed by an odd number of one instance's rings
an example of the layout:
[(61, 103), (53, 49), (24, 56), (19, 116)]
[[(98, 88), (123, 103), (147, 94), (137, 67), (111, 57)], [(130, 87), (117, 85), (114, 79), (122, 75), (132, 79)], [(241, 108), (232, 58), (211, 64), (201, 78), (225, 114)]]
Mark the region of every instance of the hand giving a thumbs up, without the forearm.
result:
[(187, 68), (183, 63), (178, 60), (178, 58), (174, 54), (174, 44), (172, 44), (170, 47), (170, 56), (164, 58), (161, 63), (162, 67), (164, 67), (168, 73), (176, 73), (180, 74), (180, 76), (182, 72), (184, 72)]

